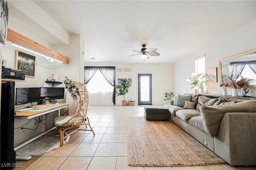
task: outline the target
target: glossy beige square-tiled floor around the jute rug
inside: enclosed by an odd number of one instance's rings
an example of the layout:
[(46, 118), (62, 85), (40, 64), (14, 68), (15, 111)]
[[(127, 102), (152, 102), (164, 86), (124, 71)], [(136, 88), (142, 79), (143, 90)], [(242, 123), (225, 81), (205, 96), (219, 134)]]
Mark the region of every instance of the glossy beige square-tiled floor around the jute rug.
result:
[(256, 166), (229, 164), (180, 167), (128, 166), (128, 117), (144, 116), (138, 106), (90, 106), (88, 117), (96, 135), (77, 131), (68, 143), (48, 154), (32, 157), (14, 170), (256, 170)]

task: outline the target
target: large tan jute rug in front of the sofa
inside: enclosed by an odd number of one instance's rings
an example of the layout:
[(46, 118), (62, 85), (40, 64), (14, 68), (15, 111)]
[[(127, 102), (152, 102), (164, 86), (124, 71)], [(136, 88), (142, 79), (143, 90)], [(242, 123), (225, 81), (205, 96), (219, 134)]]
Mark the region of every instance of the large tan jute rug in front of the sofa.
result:
[(198, 166), (224, 164), (218, 155), (170, 121), (129, 117), (129, 166)]

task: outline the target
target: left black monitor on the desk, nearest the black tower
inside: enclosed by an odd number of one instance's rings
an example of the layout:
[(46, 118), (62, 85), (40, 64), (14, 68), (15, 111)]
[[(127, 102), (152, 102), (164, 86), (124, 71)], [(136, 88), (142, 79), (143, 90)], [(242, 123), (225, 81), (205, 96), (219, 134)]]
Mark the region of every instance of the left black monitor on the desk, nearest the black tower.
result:
[(16, 88), (15, 105), (40, 101), (40, 87)]

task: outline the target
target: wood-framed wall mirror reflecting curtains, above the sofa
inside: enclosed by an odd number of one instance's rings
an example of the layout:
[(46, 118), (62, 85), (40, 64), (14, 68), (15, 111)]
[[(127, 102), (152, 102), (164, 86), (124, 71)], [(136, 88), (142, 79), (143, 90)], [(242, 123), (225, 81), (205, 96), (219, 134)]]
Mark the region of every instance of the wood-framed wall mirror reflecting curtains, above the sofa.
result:
[[(219, 69), (220, 83), (225, 82), (227, 76), (234, 80), (241, 76), (256, 80), (256, 49), (219, 60)], [(250, 87), (256, 87), (256, 82)]]

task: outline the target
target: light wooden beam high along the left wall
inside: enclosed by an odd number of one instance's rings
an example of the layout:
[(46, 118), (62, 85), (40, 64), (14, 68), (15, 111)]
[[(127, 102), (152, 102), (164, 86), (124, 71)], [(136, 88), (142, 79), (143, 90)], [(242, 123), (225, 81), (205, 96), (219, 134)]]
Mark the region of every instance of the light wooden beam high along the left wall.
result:
[(8, 29), (7, 31), (7, 41), (16, 43), (18, 45), (21, 45), (23, 47), (26, 47), (28, 49), (31, 49), (33, 51), (46, 55), (48, 57), (52, 57), (53, 59), (62, 61), (63, 64), (69, 63), (69, 58), (67, 56), (57, 53), (56, 51), (49, 49), (48, 47), (45, 47), (44, 45), (41, 45), (33, 41), (32, 39), (24, 37), (23, 35), (16, 33), (11, 29)]

